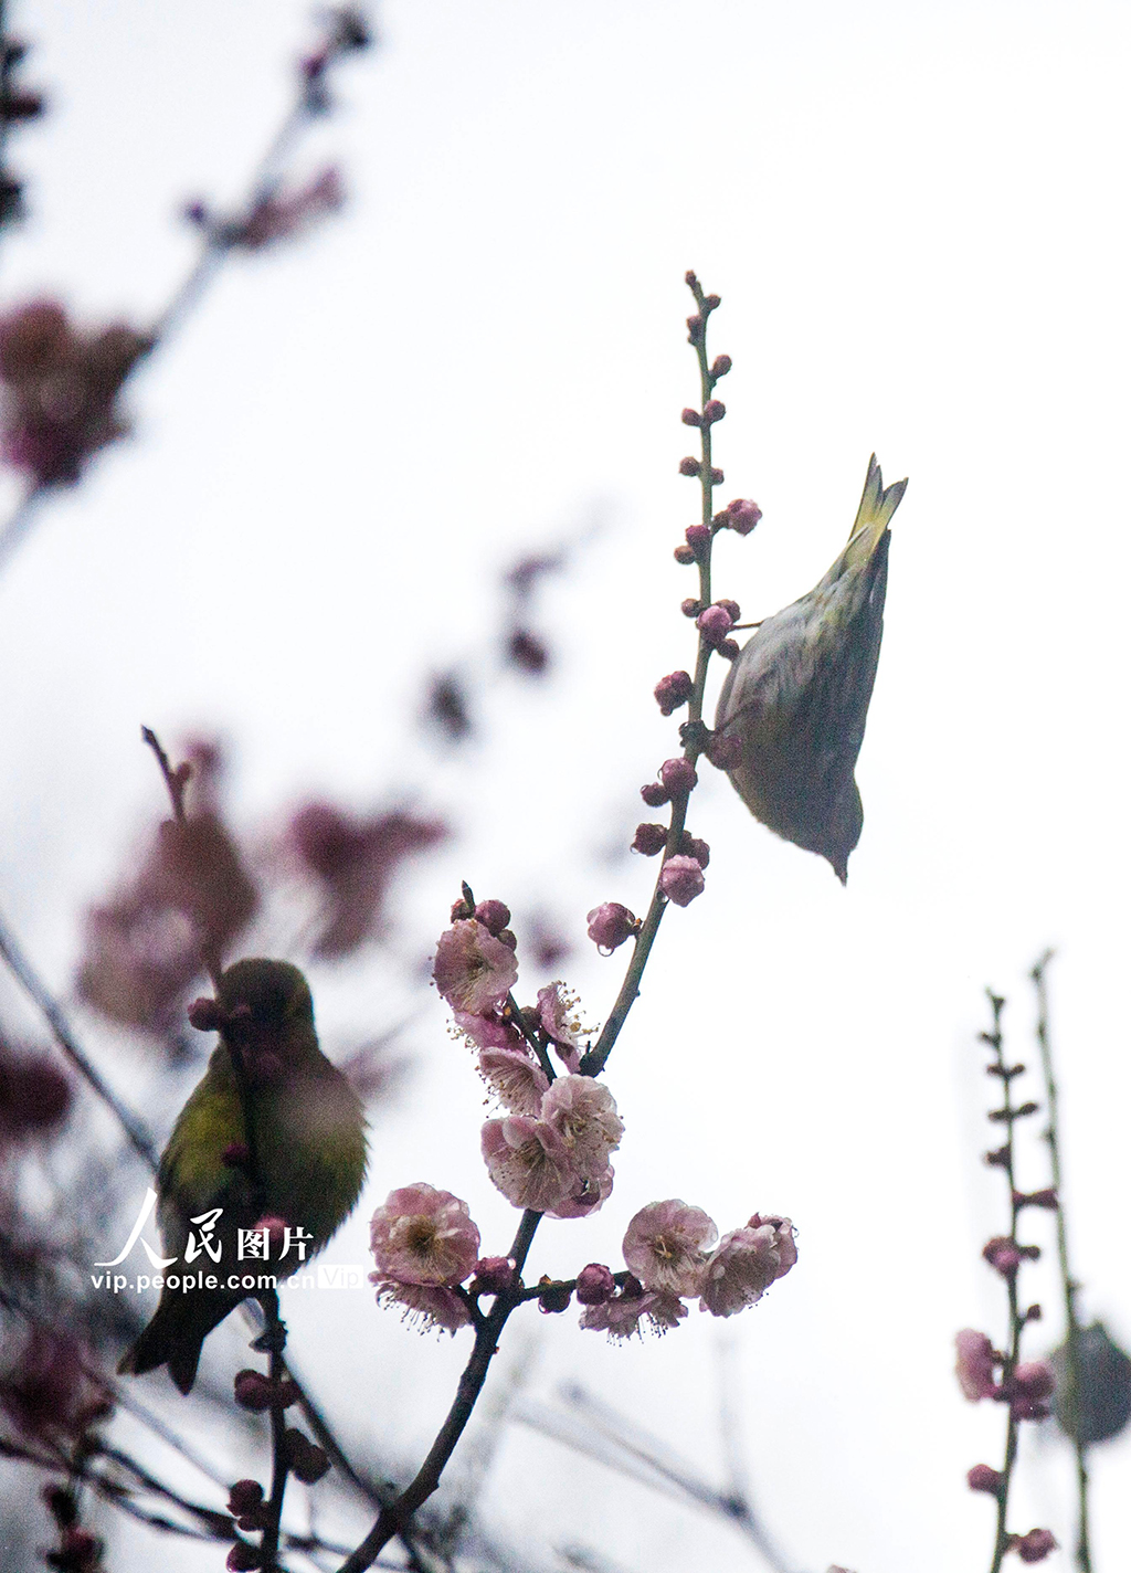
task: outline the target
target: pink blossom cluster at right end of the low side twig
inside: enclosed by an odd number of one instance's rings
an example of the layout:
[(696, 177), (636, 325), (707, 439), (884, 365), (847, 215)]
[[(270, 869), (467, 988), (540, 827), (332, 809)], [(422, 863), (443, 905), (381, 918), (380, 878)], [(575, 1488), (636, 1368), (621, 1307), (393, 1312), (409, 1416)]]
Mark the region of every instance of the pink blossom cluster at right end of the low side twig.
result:
[(733, 1317), (760, 1301), (798, 1260), (788, 1218), (755, 1213), (719, 1240), (702, 1208), (676, 1199), (640, 1208), (624, 1233), (623, 1252), (626, 1274), (613, 1277), (591, 1263), (577, 1277), (582, 1328), (610, 1339), (628, 1339), (643, 1328), (665, 1332), (687, 1315), (689, 1299), (713, 1317)]

